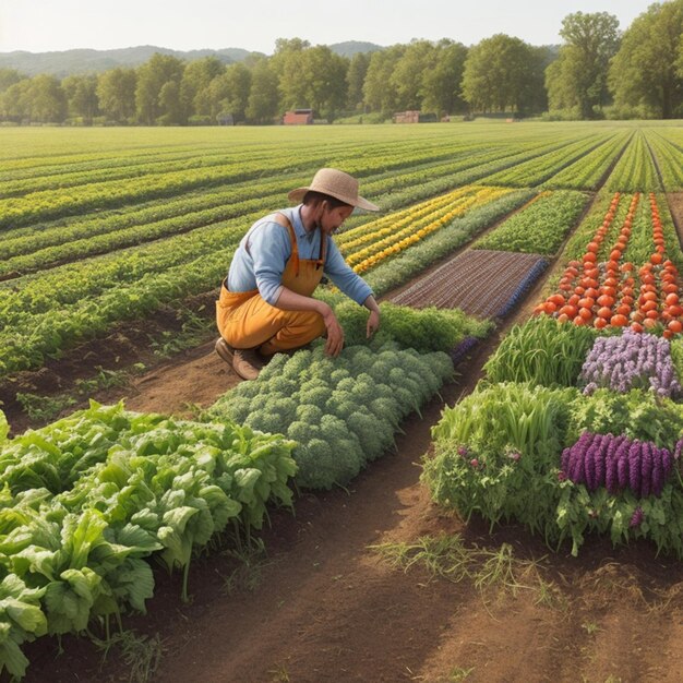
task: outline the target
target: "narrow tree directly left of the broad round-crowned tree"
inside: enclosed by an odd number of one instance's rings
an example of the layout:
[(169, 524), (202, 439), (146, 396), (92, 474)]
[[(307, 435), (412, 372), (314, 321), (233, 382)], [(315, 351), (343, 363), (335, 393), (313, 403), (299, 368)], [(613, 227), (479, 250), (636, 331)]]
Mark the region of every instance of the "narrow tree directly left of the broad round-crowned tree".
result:
[(439, 116), (464, 111), (467, 107), (460, 95), (467, 48), (462, 43), (441, 40), (436, 46), (433, 65), (424, 73), (422, 108)]

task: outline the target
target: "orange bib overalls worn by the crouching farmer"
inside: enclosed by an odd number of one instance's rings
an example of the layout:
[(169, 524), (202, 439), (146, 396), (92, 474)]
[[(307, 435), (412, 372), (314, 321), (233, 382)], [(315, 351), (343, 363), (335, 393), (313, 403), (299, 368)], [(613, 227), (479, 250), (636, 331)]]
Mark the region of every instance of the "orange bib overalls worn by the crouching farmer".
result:
[[(310, 297), (323, 277), (326, 239), (323, 236), (317, 259), (299, 259), (297, 236), (283, 214), (273, 220), (286, 227), (291, 241), (291, 255), (283, 273), (283, 286)], [(223, 338), (237, 349), (256, 348), (264, 356), (296, 349), (325, 333), (323, 316), (315, 311), (284, 311), (271, 305), (257, 289), (231, 292), (228, 278), (216, 301), (216, 323)]]

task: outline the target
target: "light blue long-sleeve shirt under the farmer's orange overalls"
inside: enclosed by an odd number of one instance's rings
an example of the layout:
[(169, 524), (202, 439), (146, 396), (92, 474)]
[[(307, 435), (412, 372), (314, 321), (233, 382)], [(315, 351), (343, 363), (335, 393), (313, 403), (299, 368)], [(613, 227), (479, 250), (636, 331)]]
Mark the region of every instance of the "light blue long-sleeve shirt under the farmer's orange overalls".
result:
[[(301, 220), (301, 204), (285, 208), (295, 235), (299, 259), (317, 259), (321, 231), (305, 231)], [(249, 252), (247, 251), (249, 243)], [(259, 289), (259, 293), (275, 305), (283, 288), (283, 273), (291, 256), (287, 228), (265, 216), (256, 220), (240, 241), (228, 271), (228, 289), (233, 292)], [(332, 238), (327, 237), (323, 273), (350, 299), (362, 304), (372, 295), (370, 286), (346, 263)]]

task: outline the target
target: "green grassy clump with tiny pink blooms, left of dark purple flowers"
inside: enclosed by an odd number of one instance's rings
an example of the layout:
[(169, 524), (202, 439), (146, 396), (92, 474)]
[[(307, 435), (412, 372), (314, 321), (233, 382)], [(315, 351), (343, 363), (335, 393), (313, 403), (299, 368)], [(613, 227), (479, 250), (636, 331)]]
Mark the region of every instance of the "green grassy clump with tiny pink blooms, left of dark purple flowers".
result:
[(422, 480), (434, 500), (465, 518), (517, 519), (550, 538), (568, 404), (575, 390), (502, 383), (444, 410), (432, 429), (435, 455)]

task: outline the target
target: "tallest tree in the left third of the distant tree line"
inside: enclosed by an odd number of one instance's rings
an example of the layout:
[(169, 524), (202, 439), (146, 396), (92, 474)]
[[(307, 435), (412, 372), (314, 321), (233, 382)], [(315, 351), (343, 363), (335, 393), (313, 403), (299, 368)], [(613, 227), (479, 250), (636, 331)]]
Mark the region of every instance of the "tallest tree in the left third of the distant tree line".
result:
[[(171, 104), (169, 96), (177, 93), (180, 96), (180, 81), (184, 70), (184, 62), (170, 55), (160, 55), (155, 52), (151, 59), (137, 70), (137, 86), (135, 87), (135, 107), (137, 119), (147, 125), (157, 122), (168, 121), (171, 117), (175, 121), (181, 115), (179, 109), (173, 106), (173, 111), (168, 111)], [(167, 83), (175, 83), (165, 91), (164, 101), (160, 100), (163, 88)], [(161, 119), (164, 115), (168, 115), (166, 119)], [(183, 123), (183, 120), (177, 120)]]

